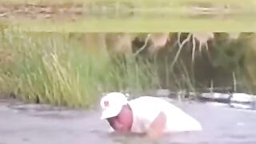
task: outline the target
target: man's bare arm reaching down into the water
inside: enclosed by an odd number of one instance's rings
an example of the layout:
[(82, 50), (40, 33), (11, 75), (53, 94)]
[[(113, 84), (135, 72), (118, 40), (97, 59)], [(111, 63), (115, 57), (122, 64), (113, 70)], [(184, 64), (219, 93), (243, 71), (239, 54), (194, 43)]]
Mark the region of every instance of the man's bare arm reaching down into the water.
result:
[(149, 130), (147, 130), (146, 135), (149, 138), (158, 138), (162, 135), (165, 128), (166, 128), (166, 114), (161, 112), (150, 124)]

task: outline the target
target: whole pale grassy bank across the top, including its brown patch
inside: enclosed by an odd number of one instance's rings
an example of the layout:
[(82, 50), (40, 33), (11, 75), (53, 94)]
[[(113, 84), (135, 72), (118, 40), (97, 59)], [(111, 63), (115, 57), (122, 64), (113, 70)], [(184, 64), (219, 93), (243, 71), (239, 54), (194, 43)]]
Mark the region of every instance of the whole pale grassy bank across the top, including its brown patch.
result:
[(251, 0), (1, 0), (0, 3), (6, 4), (0, 6), (2, 22), (28, 31), (227, 32), (255, 31), (256, 27), (256, 2)]

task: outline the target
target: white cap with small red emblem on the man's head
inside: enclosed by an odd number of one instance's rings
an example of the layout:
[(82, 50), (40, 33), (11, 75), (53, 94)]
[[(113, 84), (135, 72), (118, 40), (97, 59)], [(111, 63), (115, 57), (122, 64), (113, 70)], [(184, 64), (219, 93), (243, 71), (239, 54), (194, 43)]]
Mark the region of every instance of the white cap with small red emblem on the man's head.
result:
[(126, 105), (128, 100), (125, 94), (111, 92), (101, 99), (102, 116), (101, 119), (112, 118), (117, 116)]

